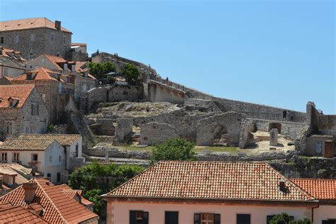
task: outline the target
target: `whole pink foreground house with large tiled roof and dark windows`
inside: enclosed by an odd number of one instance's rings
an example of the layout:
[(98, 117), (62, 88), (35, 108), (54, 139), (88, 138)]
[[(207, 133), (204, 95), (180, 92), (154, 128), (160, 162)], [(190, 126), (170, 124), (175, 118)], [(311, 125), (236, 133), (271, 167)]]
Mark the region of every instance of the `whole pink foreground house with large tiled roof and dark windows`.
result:
[(158, 162), (102, 196), (107, 223), (261, 224), (315, 220), (318, 200), (262, 162)]

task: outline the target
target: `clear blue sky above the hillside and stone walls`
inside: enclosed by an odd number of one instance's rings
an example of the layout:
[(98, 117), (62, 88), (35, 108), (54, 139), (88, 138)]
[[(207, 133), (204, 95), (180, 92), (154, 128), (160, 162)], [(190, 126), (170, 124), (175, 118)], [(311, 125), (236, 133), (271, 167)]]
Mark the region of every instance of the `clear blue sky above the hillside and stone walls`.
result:
[(332, 0), (0, 0), (1, 21), (33, 17), (214, 96), (336, 113)]

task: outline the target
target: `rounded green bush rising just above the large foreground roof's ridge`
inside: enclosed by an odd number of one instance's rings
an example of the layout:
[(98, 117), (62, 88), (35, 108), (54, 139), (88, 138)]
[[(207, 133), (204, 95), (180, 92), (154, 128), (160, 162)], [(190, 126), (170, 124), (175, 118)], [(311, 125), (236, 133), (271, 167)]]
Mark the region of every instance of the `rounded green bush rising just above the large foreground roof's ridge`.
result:
[(182, 138), (172, 138), (156, 145), (152, 150), (151, 161), (152, 163), (159, 160), (196, 160), (194, 143), (188, 142)]

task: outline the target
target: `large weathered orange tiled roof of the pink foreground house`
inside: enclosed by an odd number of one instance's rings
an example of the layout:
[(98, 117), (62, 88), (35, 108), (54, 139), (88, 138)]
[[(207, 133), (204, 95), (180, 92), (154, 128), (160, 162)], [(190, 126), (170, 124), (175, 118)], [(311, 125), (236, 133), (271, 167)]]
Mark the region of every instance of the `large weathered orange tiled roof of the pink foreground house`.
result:
[[(286, 193), (279, 191), (285, 180)], [(162, 161), (104, 196), (311, 201), (309, 194), (263, 162)]]

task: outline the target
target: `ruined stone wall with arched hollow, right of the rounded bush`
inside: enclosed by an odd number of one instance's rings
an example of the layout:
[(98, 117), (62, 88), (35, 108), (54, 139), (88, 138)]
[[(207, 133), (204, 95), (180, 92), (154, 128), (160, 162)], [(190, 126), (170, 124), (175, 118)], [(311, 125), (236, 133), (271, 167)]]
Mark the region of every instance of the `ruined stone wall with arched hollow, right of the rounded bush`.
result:
[(240, 131), (245, 119), (245, 114), (236, 112), (202, 119), (197, 125), (196, 145), (213, 145), (215, 138), (222, 138), (223, 135), (227, 145), (239, 145)]

